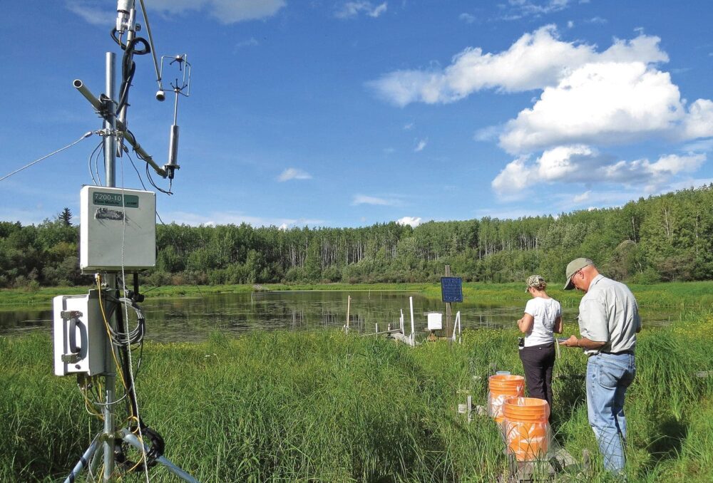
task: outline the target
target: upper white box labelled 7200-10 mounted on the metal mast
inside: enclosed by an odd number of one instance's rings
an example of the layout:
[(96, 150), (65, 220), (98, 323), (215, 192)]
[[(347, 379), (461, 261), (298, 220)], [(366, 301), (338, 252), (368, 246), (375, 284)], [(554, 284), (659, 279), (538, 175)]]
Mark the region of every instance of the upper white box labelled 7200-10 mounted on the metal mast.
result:
[(81, 190), (79, 267), (84, 272), (156, 265), (156, 194), (85, 186)]

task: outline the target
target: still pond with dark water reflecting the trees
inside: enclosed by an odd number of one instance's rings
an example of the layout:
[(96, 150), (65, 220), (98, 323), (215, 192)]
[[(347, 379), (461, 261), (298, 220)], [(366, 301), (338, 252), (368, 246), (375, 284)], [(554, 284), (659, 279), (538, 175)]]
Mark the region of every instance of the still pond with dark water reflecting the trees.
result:
[[(271, 291), (253, 294), (210, 294), (202, 297), (150, 298), (141, 303), (146, 319), (146, 339), (156, 342), (202, 341), (212, 331), (242, 334), (276, 329), (336, 329), (347, 323), (362, 333), (399, 326), (404, 313), (407, 333), (411, 316), (409, 297), (414, 298), (414, 326), (417, 336), (426, 336), (426, 313), (443, 312), (445, 304), (408, 291)], [(460, 312), (461, 327), (515, 328), (525, 303), (453, 303), (453, 318)], [(563, 308), (565, 334), (578, 333), (578, 308)], [(662, 326), (678, 317), (676, 308), (647, 311), (642, 308), (645, 326)], [(28, 331), (51, 331), (50, 308), (21, 308), (0, 311), (0, 336)], [(443, 319), (445, 326), (445, 316)]]

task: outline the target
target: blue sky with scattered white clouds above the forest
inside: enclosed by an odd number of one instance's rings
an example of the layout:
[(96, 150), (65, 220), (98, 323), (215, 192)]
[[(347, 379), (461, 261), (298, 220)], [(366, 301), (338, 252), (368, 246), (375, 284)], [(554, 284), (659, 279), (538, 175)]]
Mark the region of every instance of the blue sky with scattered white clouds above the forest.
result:
[[(167, 223), (518, 218), (713, 181), (709, 1), (145, 5), (158, 56), (192, 65)], [(115, 19), (116, 1), (4, 2), (0, 177), (101, 128), (72, 81), (103, 92)], [(128, 125), (163, 165), (173, 93), (158, 103), (150, 56), (135, 63)], [(0, 181), (0, 220), (78, 222), (98, 142)], [(128, 157), (117, 170), (141, 187)]]

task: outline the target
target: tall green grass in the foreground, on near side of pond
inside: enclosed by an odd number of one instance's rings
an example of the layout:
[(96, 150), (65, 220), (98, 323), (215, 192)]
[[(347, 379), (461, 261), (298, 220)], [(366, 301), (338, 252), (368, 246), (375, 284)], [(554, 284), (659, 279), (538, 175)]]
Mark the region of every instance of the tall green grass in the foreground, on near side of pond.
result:
[[(202, 482), (491, 482), (507, 471), (487, 417), (456, 414), (469, 391), (484, 404), (491, 364), (522, 374), (516, 333), (467, 331), (463, 344), (409, 348), (338, 331), (214, 335), (149, 344), (137, 388), (166, 456)], [(713, 315), (645, 331), (627, 394), (632, 482), (707, 482), (713, 468)], [(0, 338), (0, 481), (66, 477), (101, 422), (74, 378), (51, 375), (46, 334)], [(605, 481), (587, 424), (577, 350), (555, 365), (553, 427), (593, 468), (559, 481)], [(475, 376), (475, 377), (474, 377)], [(123, 481), (144, 481), (143, 474)], [(152, 482), (175, 481), (162, 467)]]

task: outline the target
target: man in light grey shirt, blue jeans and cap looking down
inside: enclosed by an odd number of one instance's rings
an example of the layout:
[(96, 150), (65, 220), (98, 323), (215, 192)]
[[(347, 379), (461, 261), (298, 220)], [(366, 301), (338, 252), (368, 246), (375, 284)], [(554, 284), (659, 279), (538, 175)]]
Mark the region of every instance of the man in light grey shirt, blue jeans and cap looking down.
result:
[(580, 301), (582, 338), (570, 336), (561, 346), (582, 348), (587, 361), (587, 410), (604, 466), (624, 469), (626, 418), (624, 396), (634, 380), (634, 349), (641, 318), (636, 298), (620, 282), (601, 275), (590, 259), (570, 261), (565, 290), (585, 292)]

